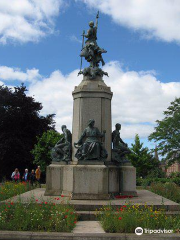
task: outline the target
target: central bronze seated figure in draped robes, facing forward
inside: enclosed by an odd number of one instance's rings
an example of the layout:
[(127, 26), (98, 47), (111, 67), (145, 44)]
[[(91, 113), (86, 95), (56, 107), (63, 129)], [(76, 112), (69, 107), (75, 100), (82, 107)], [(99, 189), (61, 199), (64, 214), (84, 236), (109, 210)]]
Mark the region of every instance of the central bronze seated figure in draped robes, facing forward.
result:
[[(77, 143), (74, 146), (78, 148), (75, 157), (78, 160), (99, 160), (103, 161), (107, 158), (108, 153), (103, 147), (99, 138), (105, 137), (106, 131), (101, 133), (97, 127), (94, 127), (94, 119), (90, 119), (88, 127), (83, 131)], [(85, 141), (84, 141), (85, 140)], [(78, 146), (78, 147), (77, 147)]]

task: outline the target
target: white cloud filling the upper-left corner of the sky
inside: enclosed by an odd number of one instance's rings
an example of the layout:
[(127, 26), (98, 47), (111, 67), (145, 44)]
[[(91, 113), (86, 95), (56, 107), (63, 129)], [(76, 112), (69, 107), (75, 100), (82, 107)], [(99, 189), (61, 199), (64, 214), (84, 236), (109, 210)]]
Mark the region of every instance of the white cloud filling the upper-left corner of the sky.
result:
[(36, 42), (54, 31), (63, 0), (0, 0), (0, 43)]

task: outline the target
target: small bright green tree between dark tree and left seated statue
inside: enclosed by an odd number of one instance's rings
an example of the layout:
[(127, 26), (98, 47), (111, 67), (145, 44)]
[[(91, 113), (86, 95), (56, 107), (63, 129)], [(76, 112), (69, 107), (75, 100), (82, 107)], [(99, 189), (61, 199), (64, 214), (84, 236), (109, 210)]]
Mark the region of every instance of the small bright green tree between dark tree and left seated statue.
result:
[(32, 154), (34, 156), (34, 164), (40, 165), (41, 170), (45, 172), (46, 166), (51, 163), (51, 149), (55, 146), (62, 135), (54, 130), (44, 132), (41, 137), (37, 137)]

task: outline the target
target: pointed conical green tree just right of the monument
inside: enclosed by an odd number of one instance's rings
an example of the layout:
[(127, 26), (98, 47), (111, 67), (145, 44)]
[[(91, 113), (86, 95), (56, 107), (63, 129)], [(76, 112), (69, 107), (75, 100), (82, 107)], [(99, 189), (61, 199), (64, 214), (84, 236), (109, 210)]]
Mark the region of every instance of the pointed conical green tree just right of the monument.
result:
[(136, 167), (138, 177), (147, 177), (153, 172), (159, 171), (159, 161), (153, 157), (147, 147), (143, 147), (138, 134), (135, 136), (135, 143), (131, 144), (129, 160)]

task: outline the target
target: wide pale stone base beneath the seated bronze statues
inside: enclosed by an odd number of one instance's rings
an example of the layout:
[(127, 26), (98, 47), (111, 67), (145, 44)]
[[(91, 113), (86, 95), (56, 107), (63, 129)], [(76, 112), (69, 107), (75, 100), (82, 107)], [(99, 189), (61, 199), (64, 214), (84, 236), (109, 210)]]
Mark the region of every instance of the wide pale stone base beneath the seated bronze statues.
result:
[(66, 165), (47, 167), (46, 196), (102, 200), (114, 195), (137, 196), (136, 169), (131, 165)]

